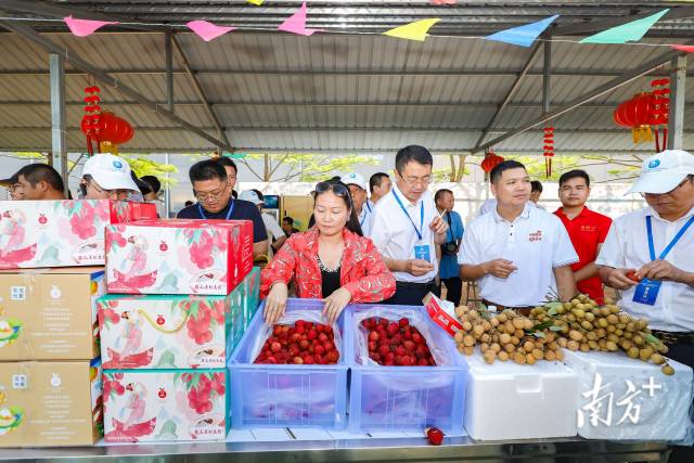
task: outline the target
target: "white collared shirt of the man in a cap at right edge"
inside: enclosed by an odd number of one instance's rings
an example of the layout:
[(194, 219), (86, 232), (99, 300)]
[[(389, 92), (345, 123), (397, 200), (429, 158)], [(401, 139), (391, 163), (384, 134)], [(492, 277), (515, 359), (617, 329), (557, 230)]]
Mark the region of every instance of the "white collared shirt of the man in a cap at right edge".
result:
[[(652, 216), (653, 246), (656, 257), (670, 244), (677, 232), (694, 215), (694, 208), (681, 219), (670, 222), (653, 208), (627, 214), (615, 219), (595, 263), (617, 269), (637, 269), (651, 261), (646, 216)], [(694, 272), (694, 226), (690, 228), (665, 260), (686, 272)], [(694, 332), (694, 287), (664, 281), (655, 305), (634, 303), (637, 286), (620, 292), (619, 307), (634, 317), (650, 320), (650, 327), (671, 332)]]

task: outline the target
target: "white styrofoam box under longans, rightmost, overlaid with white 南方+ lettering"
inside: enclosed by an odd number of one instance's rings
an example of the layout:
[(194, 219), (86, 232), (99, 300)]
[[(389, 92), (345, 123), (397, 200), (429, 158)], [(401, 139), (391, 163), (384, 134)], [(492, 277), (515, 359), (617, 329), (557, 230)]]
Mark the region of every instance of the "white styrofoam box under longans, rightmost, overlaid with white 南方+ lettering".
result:
[[(638, 440), (685, 437), (691, 426), (691, 368), (670, 360), (674, 374), (668, 376), (659, 365), (631, 359), (621, 351), (565, 352), (564, 362), (579, 376), (579, 436)], [(592, 394), (596, 373), (600, 390)]]

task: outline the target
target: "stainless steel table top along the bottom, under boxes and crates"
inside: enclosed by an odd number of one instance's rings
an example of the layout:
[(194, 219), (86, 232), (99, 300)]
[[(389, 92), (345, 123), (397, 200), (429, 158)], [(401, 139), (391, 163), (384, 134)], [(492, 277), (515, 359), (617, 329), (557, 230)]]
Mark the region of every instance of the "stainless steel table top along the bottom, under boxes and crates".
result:
[(479, 442), (467, 437), (448, 438), (440, 447), (424, 439), (350, 439), (283, 442), (198, 442), (112, 445), (75, 448), (0, 449), (0, 460), (132, 461), (150, 462), (300, 462), (329, 461), (526, 461), (526, 462), (642, 462), (667, 461), (666, 442), (534, 439)]

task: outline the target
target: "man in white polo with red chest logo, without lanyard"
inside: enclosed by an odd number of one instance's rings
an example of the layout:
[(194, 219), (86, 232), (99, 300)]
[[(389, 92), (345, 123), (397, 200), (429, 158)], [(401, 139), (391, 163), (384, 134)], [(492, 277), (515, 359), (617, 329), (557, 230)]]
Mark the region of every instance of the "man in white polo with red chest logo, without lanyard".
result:
[(491, 170), (497, 208), (467, 227), (458, 254), (463, 280), (476, 280), (487, 305), (526, 310), (557, 293), (577, 293), (571, 241), (554, 215), (530, 204), (530, 177), (516, 160)]

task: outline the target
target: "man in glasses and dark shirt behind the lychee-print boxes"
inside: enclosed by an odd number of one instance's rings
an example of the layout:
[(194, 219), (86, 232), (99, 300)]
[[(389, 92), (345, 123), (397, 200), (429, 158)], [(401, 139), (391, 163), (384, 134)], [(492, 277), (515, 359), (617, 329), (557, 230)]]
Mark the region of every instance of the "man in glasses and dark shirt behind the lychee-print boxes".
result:
[(193, 185), (193, 194), (197, 204), (193, 204), (180, 213), (179, 219), (218, 219), (253, 221), (253, 257), (268, 253), (268, 233), (262, 217), (255, 204), (234, 200), (231, 196), (232, 184), (227, 178), (227, 170), (217, 160), (207, 159), (194, 164), (189, 177)]

